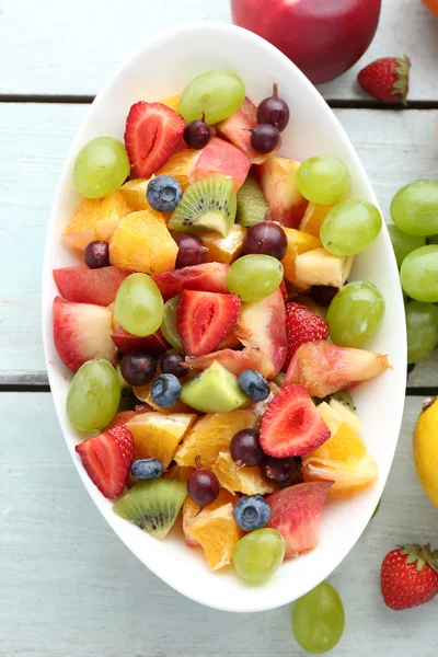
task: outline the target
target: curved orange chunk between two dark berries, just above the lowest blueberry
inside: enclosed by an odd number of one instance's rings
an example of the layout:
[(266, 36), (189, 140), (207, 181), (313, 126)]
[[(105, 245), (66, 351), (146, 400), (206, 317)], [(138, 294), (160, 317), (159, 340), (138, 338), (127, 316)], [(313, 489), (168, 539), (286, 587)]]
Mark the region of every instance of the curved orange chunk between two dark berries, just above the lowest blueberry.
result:
[(275, 486), (262, 476), (260, 468), (238, 468), (228, 451), (219, 453), (212, 471), (220, 485), (230, 493), (266, 495), (275, 491)]

